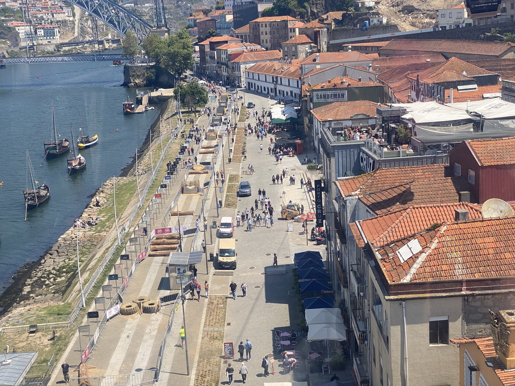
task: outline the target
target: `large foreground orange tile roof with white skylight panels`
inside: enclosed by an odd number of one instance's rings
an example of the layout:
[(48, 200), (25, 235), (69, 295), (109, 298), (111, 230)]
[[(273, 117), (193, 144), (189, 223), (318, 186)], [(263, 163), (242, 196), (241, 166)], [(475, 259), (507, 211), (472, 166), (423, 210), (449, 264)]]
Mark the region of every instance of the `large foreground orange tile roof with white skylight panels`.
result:
[(515, 216), (444, 222), (376, 253), (390, 283), (513, 277)]

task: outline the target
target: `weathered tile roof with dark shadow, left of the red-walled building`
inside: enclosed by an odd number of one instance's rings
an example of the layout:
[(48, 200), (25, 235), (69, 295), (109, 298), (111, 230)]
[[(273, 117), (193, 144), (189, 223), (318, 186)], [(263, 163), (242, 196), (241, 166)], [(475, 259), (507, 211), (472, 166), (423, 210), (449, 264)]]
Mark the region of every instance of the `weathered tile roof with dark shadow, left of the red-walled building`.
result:
[[(336, 185), (343, 197), (359, 196), (359, 200), (379, 215), (413, 205), (459, 202), (458, 192), (468, 191), (469, 185), (463, 177), (446, 177), (448, 168), (446, 165), (381, 168), (339, 180)], [(475, 201), (472, 194), (471, 201)]]

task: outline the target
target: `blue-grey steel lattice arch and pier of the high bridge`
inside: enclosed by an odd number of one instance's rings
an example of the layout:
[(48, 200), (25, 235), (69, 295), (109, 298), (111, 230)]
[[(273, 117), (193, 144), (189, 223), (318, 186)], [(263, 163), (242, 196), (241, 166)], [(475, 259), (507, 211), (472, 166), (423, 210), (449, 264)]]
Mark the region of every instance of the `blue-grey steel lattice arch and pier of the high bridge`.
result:
[[(112, 0), (67, 0), (101, 20), (125, 37), (127, 31), (133, 31), (141, 42), (152, 30), (152, 26), (140, 16), (122, 7)], [(166, 28), (163, 0), (153, 0), (154, 23), (157, 28)]]

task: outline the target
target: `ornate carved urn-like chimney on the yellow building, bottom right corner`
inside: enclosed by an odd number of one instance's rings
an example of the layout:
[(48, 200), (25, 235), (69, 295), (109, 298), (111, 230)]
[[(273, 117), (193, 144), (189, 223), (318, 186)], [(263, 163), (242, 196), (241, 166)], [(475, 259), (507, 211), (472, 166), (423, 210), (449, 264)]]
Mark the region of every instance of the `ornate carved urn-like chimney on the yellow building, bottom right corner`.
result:
[(495, 353), (506, 370), (515, 369), (515, 311), (492, 312), (490, 328), (495, 344)]

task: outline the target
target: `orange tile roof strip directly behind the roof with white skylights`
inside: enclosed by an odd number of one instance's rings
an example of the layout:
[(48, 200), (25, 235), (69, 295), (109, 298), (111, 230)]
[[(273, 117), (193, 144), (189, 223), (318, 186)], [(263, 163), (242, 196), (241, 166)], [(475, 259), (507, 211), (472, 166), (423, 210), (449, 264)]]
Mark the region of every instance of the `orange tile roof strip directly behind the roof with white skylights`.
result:
[[(351, 227), (358, 247), (365, 246), (365, 238), (373, 247), (428, 229), (435, 223), (454, 221), (455, 210), (466, 209), (470, 219), (481, 219), (481, 206), (468, 202), (409, 206), (393, 212), (359, 221)], [(358, 230), (361, 228), (362, 232)]]

